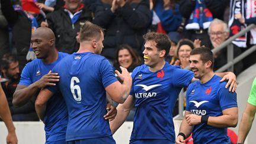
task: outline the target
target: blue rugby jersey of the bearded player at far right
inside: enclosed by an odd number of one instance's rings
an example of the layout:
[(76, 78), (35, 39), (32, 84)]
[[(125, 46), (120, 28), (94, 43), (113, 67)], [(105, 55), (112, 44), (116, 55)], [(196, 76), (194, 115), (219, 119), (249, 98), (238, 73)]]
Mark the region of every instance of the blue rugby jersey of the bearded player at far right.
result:
[[(237, 107), (236, 93), (225, 88), (226, 82), (219, 82), (214, 75), (205, 84), (193, 82), (187, 89), (186, 110), (199, 116), (222, 116), (226, 108)], [(230, 143), (227, 128), (217, 128), (204, 123), (193, 127), (194, 143)]]

